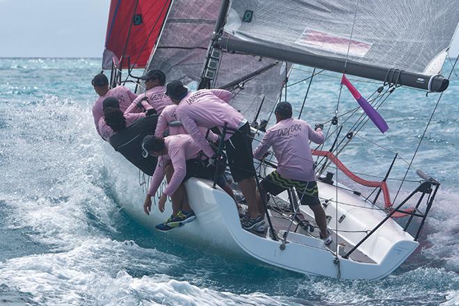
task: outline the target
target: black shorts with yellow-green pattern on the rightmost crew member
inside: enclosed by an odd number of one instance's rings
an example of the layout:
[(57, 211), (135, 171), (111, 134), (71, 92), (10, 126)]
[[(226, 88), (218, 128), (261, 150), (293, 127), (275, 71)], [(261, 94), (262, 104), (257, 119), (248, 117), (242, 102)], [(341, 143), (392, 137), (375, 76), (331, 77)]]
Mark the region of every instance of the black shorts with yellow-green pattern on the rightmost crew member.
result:
[(303, 205), (316, 206), (320, 205), (319, 189), (316, 181), (304, 182), (297, 179), (286, 179), (281, 177), (277, 171), (271, 172), (261, 181), (261, 188), (271, 195), (278, 195), (282, 191), (295, 187), (298, 198)]

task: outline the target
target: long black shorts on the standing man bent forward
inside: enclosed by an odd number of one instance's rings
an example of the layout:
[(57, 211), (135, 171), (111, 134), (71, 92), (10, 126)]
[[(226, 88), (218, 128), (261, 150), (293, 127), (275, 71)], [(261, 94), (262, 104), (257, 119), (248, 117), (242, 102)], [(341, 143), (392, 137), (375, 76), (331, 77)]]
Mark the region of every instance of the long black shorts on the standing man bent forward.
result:
[(250, 124), (247, 122), (225, 141), (228, 166), (230, 166), (234, 182), (253, 177), (255, 174), (252, 140), (249, 135)]

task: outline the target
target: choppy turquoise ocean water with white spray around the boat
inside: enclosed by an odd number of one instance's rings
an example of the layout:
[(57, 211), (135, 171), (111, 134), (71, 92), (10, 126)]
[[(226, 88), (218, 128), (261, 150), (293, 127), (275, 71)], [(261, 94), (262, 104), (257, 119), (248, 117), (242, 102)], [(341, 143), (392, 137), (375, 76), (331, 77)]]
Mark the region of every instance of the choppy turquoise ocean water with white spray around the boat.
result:
[[(442, 184), (419, 249), (392, 275), (369, 282), (241, 262), (140, 227), (116, 201), (102, 156), (107, 144), (92, 122), (90, 81), (100, 63), (0, 58), (0, 305), (459, 305), (459, 69), (413, 163)], [(290, 83), (310, 71), (299, 67)], [(287, 90), (296, 113), (307, 83)], [(380, 84), (355, 85), (367, 96)], [(338, 92), (337, 74), (314, 77), (303, 118), (330, 120)], [(389, 131), (367, 124), (341, 159), (375, 176), (385, 175), (395, 152), (410, 161), (438, 97), (398, 88), (380, 111)], [(353, 107), (343, 91), (339, 114)], [(405, 170), (398, 159), (392, 190)], [(414, 186), (404, 184), (399, 200)]]

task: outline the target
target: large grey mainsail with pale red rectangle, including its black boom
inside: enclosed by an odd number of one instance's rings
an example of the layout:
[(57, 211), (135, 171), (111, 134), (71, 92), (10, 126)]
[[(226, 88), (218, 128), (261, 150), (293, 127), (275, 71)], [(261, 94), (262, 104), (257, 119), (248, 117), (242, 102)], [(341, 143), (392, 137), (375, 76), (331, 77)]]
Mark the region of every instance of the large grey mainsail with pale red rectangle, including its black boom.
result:
[[(224, 38), (223, 47), (338, 72), (348, 54), (346, 74), (385, 81), (394, 68), (404, 85), (427, 89), (458, 22), (456, 1), (232, 0), (225, 32), (236, 40)], [(434, 81), (429, 89), (447, 86)]]

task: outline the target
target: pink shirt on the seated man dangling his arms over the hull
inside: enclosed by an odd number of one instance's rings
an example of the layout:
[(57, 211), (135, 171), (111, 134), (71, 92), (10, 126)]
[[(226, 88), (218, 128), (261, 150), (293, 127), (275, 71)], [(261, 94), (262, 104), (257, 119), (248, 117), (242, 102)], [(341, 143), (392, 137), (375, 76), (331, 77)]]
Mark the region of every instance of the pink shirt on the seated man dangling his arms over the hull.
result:
[(163, 193), (169, 196), (173, 195), (186, 176), (186, 161), (195, 159), (201, 151), (201, 147), (188, 134), (168, 136), (164, 138), (164, 144), (168, 149), (168, 154), (159, 156), (152, 182), (148, 189), (149, 195), (154, 195), (158, 191), (159, 185), (165, 176), (164, 168), (169, 163), (172, 163), (174, 167), (174, 174)]

